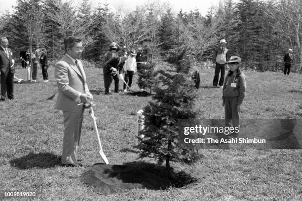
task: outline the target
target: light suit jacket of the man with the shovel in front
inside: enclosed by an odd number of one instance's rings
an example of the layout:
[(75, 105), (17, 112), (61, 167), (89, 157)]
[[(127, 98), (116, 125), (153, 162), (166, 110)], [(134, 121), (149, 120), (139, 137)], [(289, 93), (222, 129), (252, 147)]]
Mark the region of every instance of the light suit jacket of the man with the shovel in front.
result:
[(77, 99), (79, 93), (89, 92), (86, 75), (82, 63), (78, 61), (79, 69), (71, 58), (65, 55), (58, 63), (55, 64), (55, 78), (59, 89), (58, 100), (55, 109), (80, 112), (82, 105), (77, 105), (80, 100)]

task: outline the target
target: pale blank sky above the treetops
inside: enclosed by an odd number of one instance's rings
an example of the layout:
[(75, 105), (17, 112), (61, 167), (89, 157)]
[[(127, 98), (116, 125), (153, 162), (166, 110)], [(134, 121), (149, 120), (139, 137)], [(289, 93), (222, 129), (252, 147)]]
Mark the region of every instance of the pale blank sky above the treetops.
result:
[[(12, 6), (16, 4), (16, 1), (17, 0), (0, 0), (0, 12), (5, 12), (6, 10), (12, 12)], [(175, 13), (181, 8), (183, 11), (190, 11), (198, 8), (203, 16), (206, 15), (207, 10), (211, 6), (216, 6), (219, 3), (219, 0), (107, 0), (113, 11), (118, 5), (121, 5), (121, 3), (124, 3), (128, 8), (135, 8), (136, 5), (143, 5), (153, 1), (169, 3)], [(99, 2), (106, 2), (106, 0), (90, 0), (90, 2), (93, 6), (96, 6)]]

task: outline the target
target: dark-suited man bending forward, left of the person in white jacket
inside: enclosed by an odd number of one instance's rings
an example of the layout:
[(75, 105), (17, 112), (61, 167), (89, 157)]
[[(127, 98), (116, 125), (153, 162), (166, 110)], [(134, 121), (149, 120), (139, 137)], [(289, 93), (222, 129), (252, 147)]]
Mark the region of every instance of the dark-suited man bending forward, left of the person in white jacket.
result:
[(127, 54), (124, 54), (121, 57), (113, 57), (106, 62), (104, 67), (104, 82), (105, 82), (105, 94), (109, 93), (109, 87), (114, 79), (114, 92), (118, 93), (118, 75), (113, 75), (112, 72), (122, 73), (123, 66), (125, 64), (126, 59), (128, 59)]

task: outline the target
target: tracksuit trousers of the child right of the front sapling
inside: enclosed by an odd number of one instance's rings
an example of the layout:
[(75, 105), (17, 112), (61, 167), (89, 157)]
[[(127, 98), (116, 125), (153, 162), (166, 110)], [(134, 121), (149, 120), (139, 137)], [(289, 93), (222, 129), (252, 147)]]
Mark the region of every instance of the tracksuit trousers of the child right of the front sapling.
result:
[[(239, 127), (239, 112), (237, 111), (238, 97), (226, 97), (225, 102), (225, 117), (227, 127)], [(238, 134), (233, 133), (233, 137)]]

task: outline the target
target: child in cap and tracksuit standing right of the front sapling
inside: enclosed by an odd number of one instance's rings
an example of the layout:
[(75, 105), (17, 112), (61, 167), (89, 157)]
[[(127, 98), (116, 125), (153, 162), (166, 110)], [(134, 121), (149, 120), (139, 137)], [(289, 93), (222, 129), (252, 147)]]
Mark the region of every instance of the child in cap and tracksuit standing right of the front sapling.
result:
[[(241, 59), (233, 56), (227, 62), (229, 71), (223, 86), (223, 103), (225, 107), (226, 126), (239, 128), (239, 112), (246, 93), (246, 77), (241, 72)], [(237, 137), (238, 133), (233, 133)]]

